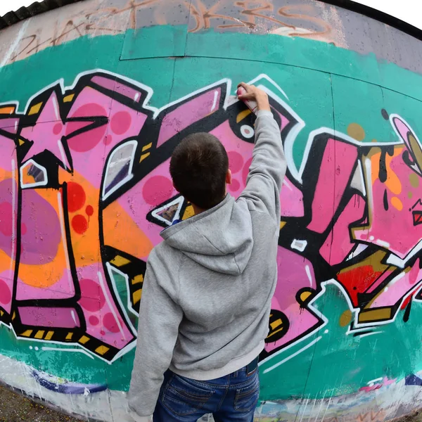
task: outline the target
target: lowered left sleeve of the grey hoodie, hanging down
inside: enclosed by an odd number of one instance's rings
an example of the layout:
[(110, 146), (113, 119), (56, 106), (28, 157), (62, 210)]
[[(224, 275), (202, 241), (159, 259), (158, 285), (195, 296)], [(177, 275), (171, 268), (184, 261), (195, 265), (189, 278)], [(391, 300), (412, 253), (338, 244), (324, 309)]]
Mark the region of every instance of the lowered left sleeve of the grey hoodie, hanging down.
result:
[(153, 414), (183, 317), (177, 304), (179, 281), (174, 280), (174, 274), (179, 271), (170, 269), (168, 262), (160, 259), (157, 248), (153, 249), (143, 281), (138, 340), (128, 395), (129, 408), (138, 416)]

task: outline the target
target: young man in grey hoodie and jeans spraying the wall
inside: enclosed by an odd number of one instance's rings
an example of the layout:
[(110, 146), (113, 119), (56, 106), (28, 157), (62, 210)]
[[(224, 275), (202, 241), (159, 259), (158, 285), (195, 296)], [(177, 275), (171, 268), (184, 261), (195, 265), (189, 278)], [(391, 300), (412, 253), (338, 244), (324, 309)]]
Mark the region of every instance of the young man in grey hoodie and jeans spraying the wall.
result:
[[(129, 390), (135, 421), (252, 422), (257, 361), (277, 279), (280, 191), (286, 160), (268, 96), (254, 86), (255, 148), (234, 200), (229, 160), (215, 136), (188, 136), (170, 162), (195, 216), (162, 231), (148, 260)], [(170, 369), (169, 369), (170, 368)]]

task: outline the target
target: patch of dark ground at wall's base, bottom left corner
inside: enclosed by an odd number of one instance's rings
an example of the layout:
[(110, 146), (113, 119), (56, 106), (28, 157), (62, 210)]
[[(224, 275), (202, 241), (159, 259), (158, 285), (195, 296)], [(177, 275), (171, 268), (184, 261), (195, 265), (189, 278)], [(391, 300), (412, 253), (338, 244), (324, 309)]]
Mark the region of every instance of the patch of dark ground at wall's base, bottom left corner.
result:
[(0, 422), (81, 422), (0, 385)]

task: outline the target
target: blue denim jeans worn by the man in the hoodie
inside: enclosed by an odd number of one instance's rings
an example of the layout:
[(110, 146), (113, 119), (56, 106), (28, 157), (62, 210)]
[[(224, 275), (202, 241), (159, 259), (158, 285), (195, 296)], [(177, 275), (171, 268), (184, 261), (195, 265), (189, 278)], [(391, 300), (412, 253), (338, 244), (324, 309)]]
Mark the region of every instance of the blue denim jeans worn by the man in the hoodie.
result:
[(154, 422), (196, 422), (212, 414), (215, 422), (252, 422), (260, 395), (257, 359), (222, 378), (196, 381), (167, 371)]

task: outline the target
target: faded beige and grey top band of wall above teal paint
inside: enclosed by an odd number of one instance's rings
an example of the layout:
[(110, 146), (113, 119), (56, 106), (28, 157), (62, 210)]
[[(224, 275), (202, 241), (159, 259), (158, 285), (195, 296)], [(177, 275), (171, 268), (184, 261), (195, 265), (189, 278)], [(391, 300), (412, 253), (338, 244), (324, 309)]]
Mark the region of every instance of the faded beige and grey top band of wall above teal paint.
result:
[[(422, 56), (414, 53), (421, 49), (419, 39), (408, 34), (409, 31), (405, 32), (403, 27), (397, 29), (393, 22), (385, 25), (385, 14), (381, 12), (362, 5), (358, 5), (361, 7), (359, 11), (353, 11), (352, 8), (357, 4), (350, 0), (293, 0), (287, 6), (283, 1), (273, 0), (269, 4), (274, 10), (279, 11), (283, 8), (282, 22), (271, 20), (271, 17), (267, 16), (269, 12), (264, 11), (262, 16), (250, 16), (250, 19), (256, 20), (253, 28), (238, 24), (236, 19), (242, 19), (245, 15), (242, 15), (241, 9), (235, 5), (236, 2), (233, 6), (224, 8), (224, 15), (234, 25), (223, 24), (224, 19), (212, 17), (202, 26), (196, 25), (196, 18), (192, 13), (179, 13), (178, 2), (173, 4), (163, 0), (150, 4), (141, 1), (131, 6), (131, 2), (123, 0), (46, 0), (41, 4), (48, 2), (60, 2), (62, 5), (66, 3), (69, 6), (56, 8), (51, 13), (37, 15), (1, 30), (1, 65), (22, 60), (49, 46), (57, 46), (84, 35), (98, 37), (122, 34), (129, 29), (139, 30), (167, 23), (187, 25), (189, 34), (210, 28), (220, 33), (277, 34), (315, 39), (364, 56), (373, 53), (377, 60), (395, 63), (401, 68), (422, 74)], [(299, 14), (289, 15), (295, 11)], [(46, 20), (54, 20), (55, 25), (46, 25)], [(280, 22), (279, 27), (274, 22)], [(422, 34), (421, 31), (419, 33)], [(13, 51), (8, 54), (11, 47)], [(397, 87), (394, 89), (400, 91)]]

